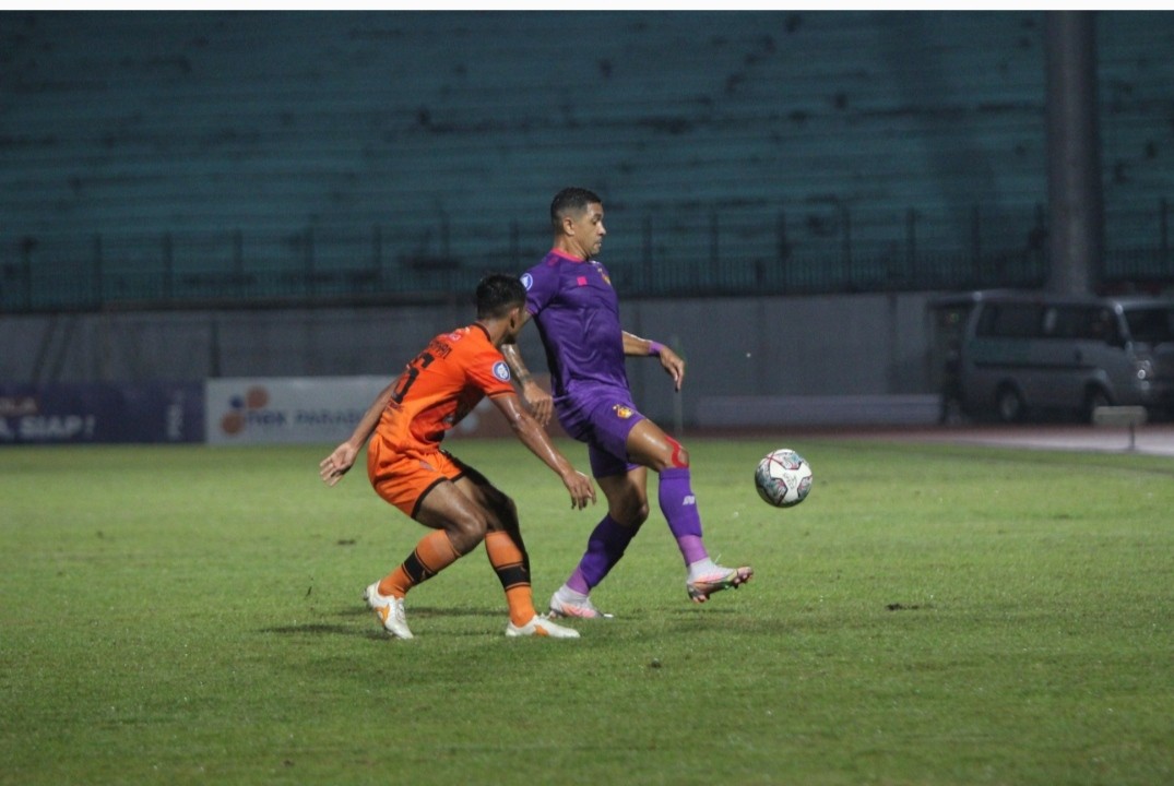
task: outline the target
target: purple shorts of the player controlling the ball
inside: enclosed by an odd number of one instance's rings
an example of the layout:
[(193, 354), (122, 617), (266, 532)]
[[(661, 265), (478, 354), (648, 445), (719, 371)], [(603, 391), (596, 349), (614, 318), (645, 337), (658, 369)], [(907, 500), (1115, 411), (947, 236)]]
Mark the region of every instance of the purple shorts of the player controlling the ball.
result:
[(628, 434), (645, 416), (632, 402), (632, 394), (619, 388), (596, 388), (579, 405), (573, 399), (565, 401), (559, 407), (559, 422), (567, 434), (587, 443), (592, 475), (622, 475), (639, 467), (628, 460)]

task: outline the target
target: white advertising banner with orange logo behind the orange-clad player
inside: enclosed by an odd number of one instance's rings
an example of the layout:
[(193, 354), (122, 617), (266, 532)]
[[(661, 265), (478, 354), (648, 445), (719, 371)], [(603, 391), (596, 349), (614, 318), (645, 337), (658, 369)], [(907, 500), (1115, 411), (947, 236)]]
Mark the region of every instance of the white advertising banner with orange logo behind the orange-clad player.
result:
[(209, 445), (338, 443), (391, 381), (389, 377), (209, 379)]

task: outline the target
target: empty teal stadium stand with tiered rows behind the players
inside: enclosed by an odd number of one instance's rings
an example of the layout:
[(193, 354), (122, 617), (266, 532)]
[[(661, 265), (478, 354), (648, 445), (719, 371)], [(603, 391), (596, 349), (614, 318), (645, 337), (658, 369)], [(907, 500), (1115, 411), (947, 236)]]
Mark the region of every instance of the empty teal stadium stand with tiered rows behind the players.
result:
[[(0, 309), (420, 296), (605, 195), (629, 291), (1039, 283), (1043, 14), (8, 12)], [(1174, 278), (1174, 18), (1098, 15), (1106, 278)]]

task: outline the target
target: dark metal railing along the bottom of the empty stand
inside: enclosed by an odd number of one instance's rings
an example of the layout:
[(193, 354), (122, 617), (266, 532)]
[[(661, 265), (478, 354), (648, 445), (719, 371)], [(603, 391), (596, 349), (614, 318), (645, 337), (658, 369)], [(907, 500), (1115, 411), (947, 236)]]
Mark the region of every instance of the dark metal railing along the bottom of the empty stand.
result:
[[(1174, 284), (1165, 201), (1107, 223), (1102, 284)], [(533, 265), (547, 231), (439, 216), (412, 226), (9, 237), (0, 312), (450, 300), (486, 272)], [(930, 214), (829, 197), (616, 211), (600, 259), (626, 297), (737, 297), (1039, 286), (1046, 246), (1039, 205)]]

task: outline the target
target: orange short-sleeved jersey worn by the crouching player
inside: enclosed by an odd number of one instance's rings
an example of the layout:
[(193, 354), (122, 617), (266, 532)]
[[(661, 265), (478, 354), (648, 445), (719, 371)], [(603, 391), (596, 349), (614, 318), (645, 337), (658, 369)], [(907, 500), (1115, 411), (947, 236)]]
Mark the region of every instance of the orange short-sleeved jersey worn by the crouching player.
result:
[(443, 333), (400, 374), (373, 440), (399, 454), (431, 453), (486, 395), (513, 392), (510, 367), (484, 327)]

